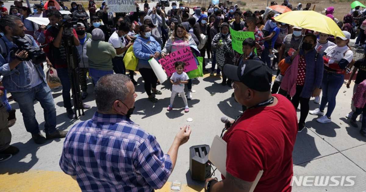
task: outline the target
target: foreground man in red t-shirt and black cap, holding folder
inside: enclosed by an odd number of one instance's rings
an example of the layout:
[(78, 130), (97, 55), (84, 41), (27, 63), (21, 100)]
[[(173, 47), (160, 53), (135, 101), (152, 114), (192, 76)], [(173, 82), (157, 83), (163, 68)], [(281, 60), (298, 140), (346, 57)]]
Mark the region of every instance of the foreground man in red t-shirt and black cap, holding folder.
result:
[(247, 110), (223, 137), (226, 178), (220, 182), (208, 178), (206, 191), (249, 191), (252, 187), (255, 191), (291, 191), (292, 150), (298, 130), (294, 106), (284, 96), (271, 94), (272, 73), (262, 61), (225, 65), (224, 73), (234, 81), (236, 101)]

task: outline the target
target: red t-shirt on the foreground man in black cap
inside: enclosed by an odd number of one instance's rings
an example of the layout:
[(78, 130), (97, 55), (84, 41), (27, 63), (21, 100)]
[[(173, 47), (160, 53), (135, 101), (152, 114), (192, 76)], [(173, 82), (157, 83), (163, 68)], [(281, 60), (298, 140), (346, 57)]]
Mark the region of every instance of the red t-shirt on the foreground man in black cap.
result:
[(264, 171), (254, 191), (291, 191), (298, 121), (292, 103), (280, 94), (273, 96), (278, 99), (275, 106), (247, 109), (223, 137), (228, 173), (253, 182)]

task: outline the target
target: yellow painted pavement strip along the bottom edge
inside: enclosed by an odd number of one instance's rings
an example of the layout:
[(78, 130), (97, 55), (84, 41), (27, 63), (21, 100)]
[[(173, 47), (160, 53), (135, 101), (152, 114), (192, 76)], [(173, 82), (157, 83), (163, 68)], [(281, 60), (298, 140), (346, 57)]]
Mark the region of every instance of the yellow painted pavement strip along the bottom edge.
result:
[[(19, 170), (4, 169), (0, 171), (0, 191), (22, 192), (79, 192), (78, 183), (63, 172), (28, 170), (20, 173)], [(11, 173), (11, 174), (9, 174)], [(172, 182), (167, 182), (156, 192), (171, 192)], [(180, 192), (203, 192), (203, 186), (182, 184)]]

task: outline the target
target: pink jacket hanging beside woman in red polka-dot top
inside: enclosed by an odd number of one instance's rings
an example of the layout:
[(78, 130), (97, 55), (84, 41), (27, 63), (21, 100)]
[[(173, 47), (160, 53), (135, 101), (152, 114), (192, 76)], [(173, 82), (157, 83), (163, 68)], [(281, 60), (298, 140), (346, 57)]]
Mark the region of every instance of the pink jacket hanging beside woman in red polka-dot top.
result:
[(298, 74), (299, 59), (300, 56), (296, 55), (294, 60), (292, 60), (292, 64), (290, 65), (290, 67), (287, 68), (285, 76), (283, 77), (281, 83), (281, 89), (287, 91), (287, 94), (289, 94), (290, 97), (294, 97), (296, 93), (296, 80)]

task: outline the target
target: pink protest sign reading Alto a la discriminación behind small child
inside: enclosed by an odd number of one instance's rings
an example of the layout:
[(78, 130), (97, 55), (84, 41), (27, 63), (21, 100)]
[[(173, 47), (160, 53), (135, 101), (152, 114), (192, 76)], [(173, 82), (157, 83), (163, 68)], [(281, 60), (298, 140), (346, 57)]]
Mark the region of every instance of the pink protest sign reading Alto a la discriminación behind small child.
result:
[(176, 61), (182, 61), (186, 64), (186, 66), (184, 67), (184, 72), (197, 69), (197, 64), (190, 47), (179, 49), (165, 56), (165, 59), (163, 58), (159, 60), (159, 63), (161, 64), (161, 66), (163, 66), (165, 72), (169, 77), (172, 76), (172, 74), (175, 72), (174, 63)]

